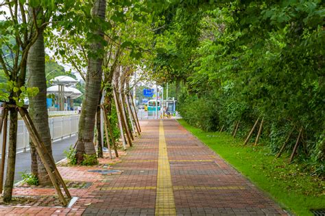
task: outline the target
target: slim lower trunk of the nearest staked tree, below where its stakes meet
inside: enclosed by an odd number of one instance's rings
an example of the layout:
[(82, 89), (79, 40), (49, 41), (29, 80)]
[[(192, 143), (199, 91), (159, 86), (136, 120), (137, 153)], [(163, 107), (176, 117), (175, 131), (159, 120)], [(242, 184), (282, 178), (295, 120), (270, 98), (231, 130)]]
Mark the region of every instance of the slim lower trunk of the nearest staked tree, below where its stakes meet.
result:
[(18, 113), (15, 108), (10, 108), (9, 146), (7, 174), (5, 176), (5, 189), (3, 190), (3, 201), (10, 202), (12, 199), (12, 187), (14, 186), (14, 167), (16, 165), (17, 124)]

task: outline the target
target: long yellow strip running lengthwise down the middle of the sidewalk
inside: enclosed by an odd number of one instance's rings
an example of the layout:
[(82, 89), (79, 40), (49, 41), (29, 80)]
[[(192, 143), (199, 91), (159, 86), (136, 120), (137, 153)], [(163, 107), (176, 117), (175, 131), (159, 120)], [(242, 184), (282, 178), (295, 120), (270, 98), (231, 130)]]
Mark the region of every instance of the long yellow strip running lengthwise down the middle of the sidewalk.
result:
[(176, 215), (163, 121), (159, 124), (158, 176), (155, 215)]

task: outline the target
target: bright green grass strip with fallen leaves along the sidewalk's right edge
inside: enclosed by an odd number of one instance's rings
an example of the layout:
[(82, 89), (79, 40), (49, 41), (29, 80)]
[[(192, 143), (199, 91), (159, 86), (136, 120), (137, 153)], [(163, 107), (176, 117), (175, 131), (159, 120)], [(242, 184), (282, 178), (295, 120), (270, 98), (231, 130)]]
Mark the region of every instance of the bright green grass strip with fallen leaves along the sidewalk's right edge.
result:
[(182, 119), (178, 122), (292, 213), (313, 215), (310, 209), (325, 208), (324, 178), (302, 172), (299, 164), (289, 165), (287, 155), (275, 159), (265, 146), (243, 147), (241, 139), (226, 133), (208, 133)]

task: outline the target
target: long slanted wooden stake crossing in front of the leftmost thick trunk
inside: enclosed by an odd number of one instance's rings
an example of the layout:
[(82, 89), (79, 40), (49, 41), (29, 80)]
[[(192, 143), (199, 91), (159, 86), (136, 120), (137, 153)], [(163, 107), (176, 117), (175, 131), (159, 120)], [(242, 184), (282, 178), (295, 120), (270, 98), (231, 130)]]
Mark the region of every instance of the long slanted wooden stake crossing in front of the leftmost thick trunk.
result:
[[(67, 185), (65, 185), (64, 180), (62, 179), (62, 177), (60, 176), (60, 173), (58, 172), (58, 170), (56, 168), (56, 164), (54, 163), (51, 155), (47, 151), (47, 148), (43, 144), (43, 141), (41, 141), (42, 139), (40, 139), (40, 135), (38, 134), (38, 132), (32, 122), (32, 119), (30, 118), (30, 116), (28, 114), (27, 109), (19, 107), (19, 113), (21, 114), (21, 117), (23, 118), (23, 120), (25, 122), (25, 125), (29, 132), (29, 135), (32, 138), (32, 141), (36, 148), (36, 151), (38, 152), (38, 155), (40, 156), (40, 159), (41, 159), (42, 163), (44, 164), (45, 169), (47, 170), (47, 174), (49, 174), (51, 182), (52, 182), (53, 186), (56, 188), (56, 191), (58, 192), (60, 202), (62, 203), (62, 205), (67, 206), (67, 200), (65, 200), (64, 195), (62, 194), (62, 191), (60, 189), (60, 185), (58, 185), (58, 182), (61, 183), (67, 197), (71, 198), (69, 190), (67, 189)], [(49, 165), (48, 161), (51, 164), (51, 166)]]

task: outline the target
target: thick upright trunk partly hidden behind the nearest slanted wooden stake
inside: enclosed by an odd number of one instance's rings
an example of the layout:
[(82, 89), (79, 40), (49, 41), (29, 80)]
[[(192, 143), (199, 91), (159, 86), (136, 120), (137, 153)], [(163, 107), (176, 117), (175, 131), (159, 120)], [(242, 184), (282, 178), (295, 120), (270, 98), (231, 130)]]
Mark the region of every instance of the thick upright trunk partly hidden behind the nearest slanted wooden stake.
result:
[[(49, 116), (47, 114), (47, 85), (45, 78), (45, 47), (43, 31), (39, 33), (36, 42), (28, 53), (27, 59), (27, 86), (38, 87), (38, 94), (29, 98), (29, 115), (36, 127), (37, 132), (52, 157), (51, 133), (49, 132)], [(33, 144), (32, 144), (33, 145)], [(35, 157), (36, 155), (36, 157)], [(31, 148), (32, 172), (37, 174), (40, 185), (51, 185), (51, 179), (38, 156), (36, 150)], [(34, 161), (35, 158), (37, 162)], [(53, 159), (53, 157), (52, 157)], [(35, 163), (37, 163), (37, 172)], [(50, 163), (49, 163), (50, 164)]]

